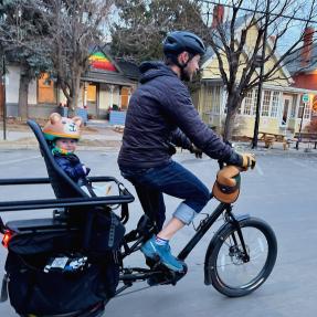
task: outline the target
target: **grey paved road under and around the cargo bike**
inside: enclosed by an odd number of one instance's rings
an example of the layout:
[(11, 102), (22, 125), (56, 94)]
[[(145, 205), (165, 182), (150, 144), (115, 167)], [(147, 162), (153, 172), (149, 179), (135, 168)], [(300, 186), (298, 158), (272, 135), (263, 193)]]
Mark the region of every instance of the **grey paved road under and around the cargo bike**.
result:
[[(83, 151), (80, 154), (94, 175), (112, 175), (120, 178), (115, 152)], [(0, 151), (1, 178), (45, 176), (42, 158), (36, 150)], [(212, 184), (216, 163), (207, 157), (196, 160), (180, 154), (176, 159), (192, 170), (207, 184)], [(257, 168), (243, 175), (242, 192), (234, 207), (236, 213), (251, 213), (265, 219), (275, 230), (278, 240), (278, 257), (273, 274), (255, 293), (231, 299), (203, 284), (203, 260), (212, 236), (209, 233), (188, 257), (189, 273), (177, 286), (152, 287), (117, 297), (106, 307), (110, 317), (315, 317), (317, 298), (317, 157), (261, 156)], [(127, 183), (128, 188), (133, 188)], [(3, 188), (0, 200), (51, 197), (49, 187)], [(170, 215), (178, 200), (167, 198)], [(216, 203), (211, 201), (205, 211)], [(136, 201), (130, 205), (130, 228), (140, 216)], [(6, 221), (49, 214), (47, 211), (3, 214)], [(192, 226), (182, 230), (172, 243), (177, 252), (193, 234)], [(0, 247), (0, 275), (3, 272), (6, 251)], [(141, 264), (137, 254), (130, 265)], [(133, 289), (145, 286), (140, 283)], [(0, 316), (17, 316), (8, 303), (0, 304)]]

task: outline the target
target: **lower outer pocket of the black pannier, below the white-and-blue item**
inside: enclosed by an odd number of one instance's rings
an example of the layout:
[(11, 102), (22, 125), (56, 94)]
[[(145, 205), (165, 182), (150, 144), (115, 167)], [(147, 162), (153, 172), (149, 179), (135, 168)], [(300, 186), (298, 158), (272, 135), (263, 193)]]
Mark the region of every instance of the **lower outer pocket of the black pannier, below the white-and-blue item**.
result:
[[(40, 262), (49, 260), (38, 255)], [(55, 271), (45, 273), (43, 266), (31, 266), (24, 256), (10, 253), (9, 297), (18, 314), (54, 315), (85, 309), (105, 300), (102, 293), (102, 271), (92, 265), (80, 273)]]

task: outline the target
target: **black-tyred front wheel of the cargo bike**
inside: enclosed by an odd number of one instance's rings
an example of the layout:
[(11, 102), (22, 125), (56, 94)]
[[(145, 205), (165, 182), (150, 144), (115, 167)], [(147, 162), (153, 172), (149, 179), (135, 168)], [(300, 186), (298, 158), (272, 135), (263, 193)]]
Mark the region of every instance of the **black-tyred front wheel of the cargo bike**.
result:
[(229, 297), (245, 296), (260, 287), (277, 255), (276, 237), (267, 223), (249, 218), (239, 224), (246, 253), (236, 228), (229, 223), (215, 234), (205, 258), (208, 279)]

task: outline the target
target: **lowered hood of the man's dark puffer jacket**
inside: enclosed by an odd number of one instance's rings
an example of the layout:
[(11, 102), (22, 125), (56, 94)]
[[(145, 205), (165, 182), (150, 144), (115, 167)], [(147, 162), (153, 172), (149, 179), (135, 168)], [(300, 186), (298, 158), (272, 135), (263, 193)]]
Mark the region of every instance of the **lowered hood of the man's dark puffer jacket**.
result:
[(140, 73), (141, 84), (158, 76), (177, 76), (177, 74), (162, 62), (144, 62), (140, 65)]

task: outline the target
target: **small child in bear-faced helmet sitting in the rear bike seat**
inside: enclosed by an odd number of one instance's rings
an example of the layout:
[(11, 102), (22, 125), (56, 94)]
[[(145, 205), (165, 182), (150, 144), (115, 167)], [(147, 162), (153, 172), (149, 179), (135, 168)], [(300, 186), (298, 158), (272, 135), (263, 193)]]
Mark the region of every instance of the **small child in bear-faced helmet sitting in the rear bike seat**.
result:
[(51, 114), (43, 128), (56, 163), (89, 196), (105, 196), (110, 187), (92, 187), (87, 179), (91, 171), (75, 155), (77, 141), (81, 137), (81, 117), (65, 118), (57, 113)]

